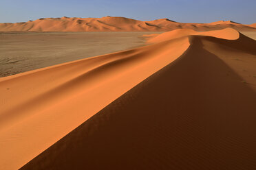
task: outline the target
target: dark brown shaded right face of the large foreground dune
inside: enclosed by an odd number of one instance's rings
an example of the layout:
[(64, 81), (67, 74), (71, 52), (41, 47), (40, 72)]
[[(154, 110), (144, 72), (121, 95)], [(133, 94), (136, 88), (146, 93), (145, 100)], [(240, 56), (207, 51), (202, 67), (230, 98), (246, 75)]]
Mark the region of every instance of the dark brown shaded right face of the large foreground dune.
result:
[(178, 59), (21, 169), (255, 169), (256, 90), (210, 52), (255, 57), (255, 40), (188, 38)]

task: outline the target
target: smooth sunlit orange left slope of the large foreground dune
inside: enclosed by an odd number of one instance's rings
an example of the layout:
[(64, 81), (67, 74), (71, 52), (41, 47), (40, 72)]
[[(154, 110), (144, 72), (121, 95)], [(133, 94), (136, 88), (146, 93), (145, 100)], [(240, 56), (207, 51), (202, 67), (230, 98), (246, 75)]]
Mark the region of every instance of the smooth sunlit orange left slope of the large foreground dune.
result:
[(180, 38), (1, 78), (0, 169), (21, 167), (188, 47)]

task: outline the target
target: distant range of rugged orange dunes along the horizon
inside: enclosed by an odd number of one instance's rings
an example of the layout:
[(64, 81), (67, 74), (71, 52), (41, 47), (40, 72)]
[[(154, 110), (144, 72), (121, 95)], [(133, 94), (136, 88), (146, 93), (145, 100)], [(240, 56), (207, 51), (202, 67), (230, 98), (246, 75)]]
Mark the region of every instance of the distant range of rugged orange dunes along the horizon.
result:
[(0, 32), (166, 32), (173, 29), (209, 31), (232, 27), (239, 31), (255, 31), (250, 25), (233, 21), (214, 23), (178, 23), (169, 19), (138, 21), (125, 17), (45, 18), (24, 23), (0, 23)]

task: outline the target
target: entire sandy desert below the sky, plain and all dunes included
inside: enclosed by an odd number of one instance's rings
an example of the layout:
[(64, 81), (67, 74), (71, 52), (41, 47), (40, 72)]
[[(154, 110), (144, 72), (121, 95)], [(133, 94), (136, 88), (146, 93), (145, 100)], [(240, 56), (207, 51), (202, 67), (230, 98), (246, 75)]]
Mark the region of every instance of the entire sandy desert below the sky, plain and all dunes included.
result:
[(0, 169), (256, 169), (256, 27), (0, 24)]

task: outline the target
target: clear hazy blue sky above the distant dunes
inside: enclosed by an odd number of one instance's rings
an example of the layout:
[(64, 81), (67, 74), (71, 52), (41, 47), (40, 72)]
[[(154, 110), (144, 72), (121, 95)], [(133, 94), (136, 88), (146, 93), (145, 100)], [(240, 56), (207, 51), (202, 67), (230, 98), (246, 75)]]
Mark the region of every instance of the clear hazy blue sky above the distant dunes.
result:
[(47, 17), (125, 16), (183, 23), (256, 23), (256, 0), (0, 0), (0, 23)]

